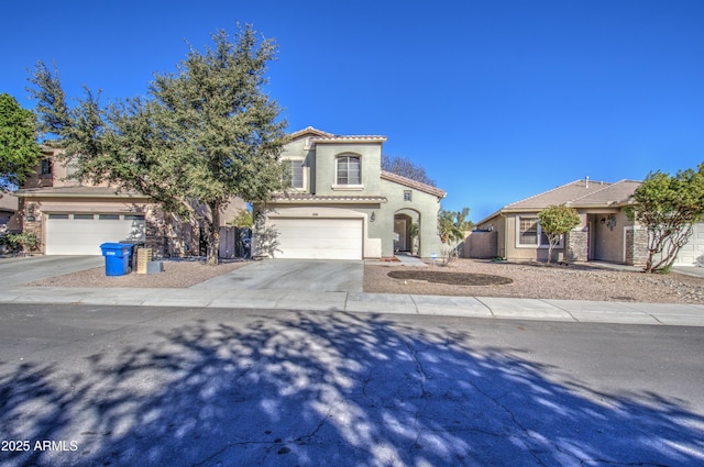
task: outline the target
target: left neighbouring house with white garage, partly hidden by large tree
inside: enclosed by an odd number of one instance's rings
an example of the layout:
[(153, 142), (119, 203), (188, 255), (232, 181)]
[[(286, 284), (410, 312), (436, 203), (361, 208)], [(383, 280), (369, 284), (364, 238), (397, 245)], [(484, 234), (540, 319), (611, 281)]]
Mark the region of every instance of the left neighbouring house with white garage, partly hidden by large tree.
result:
[[(165, 215), (158, 205), (136, 192), (109, 186), (81, 185), (68, 178), (70, 165), (55, 163), (57, 149), (43, 146), (44, 158), (15, 194), (23, 230), (40, 238), (45, 255), (100, 255), (105, 242), (145, 242), (156, 255), (199, 255), (199, 232)], [(245, 208), (235, 199), (222, 223)]]

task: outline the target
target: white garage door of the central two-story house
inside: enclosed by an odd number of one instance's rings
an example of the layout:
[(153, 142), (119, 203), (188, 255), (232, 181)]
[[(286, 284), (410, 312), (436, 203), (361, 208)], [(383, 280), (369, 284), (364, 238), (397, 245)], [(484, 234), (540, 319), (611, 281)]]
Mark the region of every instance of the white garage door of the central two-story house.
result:
[(361, 219), (272, 219), (277, 258), (362, 259)]

